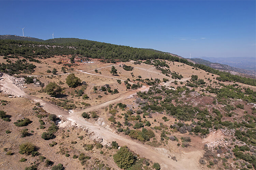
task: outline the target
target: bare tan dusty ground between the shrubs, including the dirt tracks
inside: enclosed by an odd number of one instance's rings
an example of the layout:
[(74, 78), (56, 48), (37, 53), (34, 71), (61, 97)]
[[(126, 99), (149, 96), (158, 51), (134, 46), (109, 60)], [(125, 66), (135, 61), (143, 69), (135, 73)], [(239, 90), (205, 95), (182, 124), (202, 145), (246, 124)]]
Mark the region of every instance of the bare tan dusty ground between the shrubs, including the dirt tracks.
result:
[[(42, 60), (42, 64), (36, 64), (37, 68), (35, 69), (35, 72), (33, 75), (28, 76), (35, 76), (40, 79), (42, 83), (47, 85), (49, 82), (56, 82), (57, 84), (61, 85), (62, 88), (64, 88), (64, 94), (63, 99), (67, 99), (75, 103), (77, 106), (76, 108), (65, 110), (61, 108), (60, 106), (57, 106), (53, 100), (60, 100), (59, 98), (53, 98), (50, 97), (48, 94), (43, 93), (41, 90), (43, 88), (36, 87), (33, 84), (24, 85), (27, 88), (19, 87), (14, 84), (14, 78), (12, 76), (9, 76), (7, 74), (3, 74), (3, 76), (0, 78), (0, 89), (2, 91), (1, 98), (5, 99), (7, 101), (10, 101), (12, 104), (15, 104), (17, 102), (22, 101), (28, 103), (27, 106), (30, 106), (30, 110), (33, 107), (34, 103), (39, 102), (40, 107), (43, 108), (47, 113), (52, 113), (60, 116), (61, 121), (59, 122), (59, 127), (63, 131), (63, 133), (67, 130), (70, 131), (70, 138), (67, 140), (63, 140), (64, 143), (69, 143), (72, 140), (77, 140), (78, 135), (76, 134), (84, 134), (86, 136), (86, 140), (82, 142), (78, 142), (75, 144), (75, 147), (69, 146), (70, 148), (73, 147), (73, 153), (79, 153), (81, 150), (83, 150), (82, 143), (93, 143), (95, 141), (98, 141), (105, 145), (106, 147), (110, 145), (112, 141), (117, 141), (117, 143), (120, 146), (127, 145), (128, 148), (130, 148), (134, 153), (140, 155), (140, 157), (148, 158), (153, 163), (157, 162), (161, 165), (162, 170), (200, 170), (200, 169), (207, 169), (206, 166), (203, 166), (198, 163), (200, 158), (203, 156), (204, 150), (203, 145), (208, 143), (214, 143), (219, 140), (223, 140), (224, 136), (221, 131), (216, 131), (215, 133), (210, 133), (207, 138), (202, 139), (199, 136), (192, 136), (191, 135), (191, 146), (188, 148), (181, 148), (177, 147), (176, 141), (169, 141), (168, 143), (162, 142), (159, 147), (154, 147), (152, 145), (148, 145), (145, 143), (141, 143), (138, 140), (131, 139), (129, 136), (124, 136), (120, 134), (118, 131), (116, 131), (115, 128), (113, 128), (113, 125), (108, 121), (109, 113), (107, 112), (107, 108), (110, 104), (117, 104), (117, 103), (125, 103), (129, 105), (130, 108), (136, 108), (138, 105), (134, 104), (136, 95), (138, 91), (147, 91), (150, 86), (141, 83), (143, 86), (136, 90), (126, 89), (124, 81), (127, 79), (130, 79), (130, 84), (136, 84), (136, 81), (133, 81), (133, 79), (137, 79), (139, 76), (142, 77), (142, 79), (161, 79), (163, 78), (168, 79), (166, 83), (161, 82), (161, 85), (166, 86), (169, 89), (176, 89), (178, 86), (181, 86), (181, 84), (186, 83), (186, 81), (191, 79), (192, 75), (198, 75), (198, 78), (203, 79), (207, 84), (211, 84), (211, 81), (214, 81), (216, 79), (216, 75), (208, 74), (206, 71), (200, 70), (200, 69), (192, 69), (191, 66), (181, 64), (178, 62), (167, 62), (170, 66), (171, 71), (176, 71), (179, 74), (183, 75), (182, 79), (172, 79), (165, 74), (162, 74), (160, 70), (157, 70), (155, 67), (147, 64), (140, 64), (135, 65), (133, 64), (133, 61), (126, 62), (126, 63), (101, 63), (98, 60), (93, 60), (95, 63), (88, 63), (88, 64), (77, 64), (72, 69), (66, 68), (67, 73), (63, 73), (61, 70), (62, 65), (56, 64), (53, 61), (60, 61), (62, 58), (60, 56), (56, 56), (55, 58), (50, 59), (44, 59)], [(15, 60), (15, 59), (13, 59)], [(1, 62), (1, 61), (0, 61)], [(126, 64), (128, 66), (132, 66), (134, 69), (133, 71), (125, 71), (122, 67), (120, 67), (120, 64)], [(49, 66), (50, 65), (50, 66)], [(114, 66), (117, 69), (118, 75), (111, 75), (110, 70), (111, 67)], [(46, 71), (48, 69), (56, 68), (58, 70), (57, 75), (52, 75), (50, 73), (47, 73)], [(98, 70), (98, 72), (95, 72), (95, 69)], [(192, 70), (192, 71), (191, 71)], [(133, 73), (133, 76), (131, 76), (131, 72)], [(70, 73), (75, 73), (75, 76), (78, 76), (81, 81), (86, 82), (86, 86), (84, 89), (84, 93), (88, 94), (89, 99), (83, 100), (82, 97), (76, 97), (75, 96), (75, 90), (79, 90), (80, 87), (77, 89), (70, 89), (68, 88), (68, 85), (63, 83), (65, 82), (66, 77)], [(117, 83), (117, 80), (121, 81), (121, 84)], [(176, 82), (175, 82), (176, 81)], [(103, 91), (95, 91), (93, 90), (95, 86), (103, 86), (105, 84), (108, 84), (111, 89), (118, 89), (118, 94), (105, 94)], [(224, 84), (232, 84), (232, 83), (224, 83)], [(239, 84), (242, 87), (247, 87), (247, 85)], [(213, 87), (217, 87), (217, 84), (213, 84)], [(251, 86), (253, 90), (255, 90), (255, 86)], [(188, 87), (189, 89), (193, 89), (192, 87)], [(198, 87), (195, 91), (198, 94), (203, 94), (202, 91), (203, 88)], [(205, 92), (206, 96), (205, 98), (196, 99), (189, 99), (184, 101), (191, 102), (192, 104), (196, 105), (197, 103), (203, 103), (205, 105), (211, 105), (212, 99), (211, 96), (214, 96), (214, 94), (210, 94)], [(8, 96), (13, 96), (12, 98), (8, 98)], [(102, 96), (102, 97), (98, 97)], [(83, 106), (81, 102), (89, 103), (90, 106)], [(19, 103), (17, 106), (13, 107), (14, 110), (11, 110), (12, 113), (12, 122), (15, 120), (20, 119), (23, 117), (23, 114), (25, 111), (18, 111), (15, 112), (15, 109), (18, 110), (18, 108), (23, 108), (25, 104)], [(10, 109), (10, 106), (8, 106)], [(249, 106), (248, 106), (249, 107)], [(3, 108), (5, 109), (5, 108)], [(28, 108), (29, 109), (29, 108)], [(99, 114), (98, 120), (87, 120), (81, 116), (83, 112), (91, 112), (91, 111), (97, 111)], [(124, 111), (120, 111), (121, 113), (125, 113)], [(24, 114), (25, 115), (25, 114)], [(120, 116), (119, 115), (119, 116)], [(162, 119), (163, 115), (161, 113), (154, 113), (154, 118), (147, 118), (148, 120), (155, 119), (154, 125), (160, 125), (161, 123), (164, 123)], [(167, 118), (170, 120), (169, 123), (175, 122), (175, 118), (171, 116), (167, 116)], [(31, 116), (32, 119), (32, 116)], [(123, 119), (117, 118), (118, 121), (123, 123)], [(8, 124), (5, 123), (5, 127), (8, 126)], [(191, 123), (191, 122), (186, 122)], [(169, 126), (169, 125), (168, 125)], [(33, 126), (35, 128), (35, 126)], [(16, 127), (15, 127), (16, 128)], [(30, 129), (29, 129), (30, 130)], [(14, 130), (12, 130), (14, 131)], [(16, 128), (15, 131), (18, 131)], [(40, 129), (37, 134), (39, 134), (42, 130)], [(59, 130), (60, 131), (60, 130)], [(63, 138), (60, 136), (63, 136), (63, 133), (58, 132), (58, 136), (54, 140), (61, 141)], [(86, 133), (86, 134), (85, 134)], [(17, 138), (17, 133), (16, 138)], [(176, 135), (178, 138), (181, 138), (183, 135), (180, 133), (173, 132), (174, 135)], [(4, 134), (6, 136), (9, 136), (8, 134)], [(66, 134), (67, 135), (67, 134)], [(35, 136), (35, 135), (33, 135)], [(28, 137), (33, 139), (33, 136)], [(16, 139), (15, 138), (15, 139)], [(157, 139), (160, 139), (160, 135), (156, 136)], [(45, 147), (45, 141), (39, 142), (40, 135), (36, 137), (36, 141), (38, 141), (38, 145), (40, 145), (40, 153), (49, 155), (48, 157), (52, 160), (55, 160), (56, 162), (61, 162), (63, 165), (65, 164), (66, 169), (70, 169), (71, 167), (76, 169), (81, 169), (82, 166), (76, 161), (75, 163), (71, 159), (71, 157), (68, 158), (58, 158), (56, 155), (50, 156), (51, 150), (49, 150), (48, 147)], [(6, 143), (10, 142), (10, 140), (14, 140), (13, 138), (8, 138), (8, 141), (5, 141)], [(18, 153), (18, 145), (26, 140), (26, 138), (20, 138), (16, 139), (14, 145), (10, 145), (11, 148), (15, 149), (15, 152)], [(51, 142), (53, 140), (49, 140)], [(77, 141), (80, 141), (79, 139)], [(48, 143), (49, 143), (48, 142)], [(9, 147), (6, 146), (5, 147)], [(58, 152), (57, 148), (55, 148), (54, 152)], [(90, 155), (96, 155), (96, 157), (99, 158), (99, 160), (104, 160), (103, 162), (105, 164), (108, 164), (109, 167), (113, 169), (119, 169), (117, 165), (114, 163), (113, 158), (111, 158), (111, 155), (115, 154), (113, 150), (108, 150), (107, 148), (104, 148), (104, 153), (108, 152), (108, 155), (100, 155), (99, 150), (93, 150)], [(70, 154), (71, 155), (71, 154)], [(9, 158), (9, 155), (3, 155), (2, 156), (6, 159)], [(171, 159), (173, 156), (176, 157), (176, 160)], [(16, 158), (17, 157), (17, 158)], [(24, 156), (23, 156), (24, 157)], [(8, 167), (9, 169), (17, 169), (18, 166), (24, 166), (25, 163), (19, 163), (15, 164), (18, 158), (18, 154), (14, 154), (12, 158), (15, 158), (15, 160), (10, 160), (9, 162), (6, 162), (5, 160), (1, 160), (0, 158), (0, 167), (5, 168)], [(30, 162), (35, 161), (35, 158), (33, 160), (30, 160)], [(3, 163), (3, 164), (2, 164)], [(9, 165), (8, 165), (9, 163)], [(93, 161), (91, 162), (93, 163)], [(88, 164), (89, 165), (89, 164)], [(28, 166), (28, 164), (26, 165)], [(10, 168), (12, 167), (12, 168)], [(88, 168), (88, 167), (87, 167)], [(43, 166), (40, 166), (40, 169), (47, 169)]]

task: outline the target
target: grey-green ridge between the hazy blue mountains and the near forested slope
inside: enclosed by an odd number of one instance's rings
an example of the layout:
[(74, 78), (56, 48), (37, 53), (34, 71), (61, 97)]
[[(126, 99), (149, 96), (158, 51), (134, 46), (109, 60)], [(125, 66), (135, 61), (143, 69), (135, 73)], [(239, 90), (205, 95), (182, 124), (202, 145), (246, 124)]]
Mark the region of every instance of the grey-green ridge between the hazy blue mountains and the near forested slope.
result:
[[(236, 68), (236, 67), (231, 67), (227, 64), (220, 64), (220, 63), (213, 63), (204, 59), (190, 59), (194, 62), (196, 62), (197, 64), (203, 64), (206, 65), (208, 67), (211, 67), (213, 69), (218, 69), (218, 70), (223, 70), (223, 71), (227, 71), (230, 72), (231, 74), (236, 74), (236, 73), (241, 73), (241, 74), (247, 74), (250, 76), (255, 77), (256, 76), (256, 71), (254, 70), (245, 70), (245, 69), (240, 69), (240, 68)], [(233, 73), (232, 73), (233, 72)], [(234, 73), (236, 72), (236, 73)]]

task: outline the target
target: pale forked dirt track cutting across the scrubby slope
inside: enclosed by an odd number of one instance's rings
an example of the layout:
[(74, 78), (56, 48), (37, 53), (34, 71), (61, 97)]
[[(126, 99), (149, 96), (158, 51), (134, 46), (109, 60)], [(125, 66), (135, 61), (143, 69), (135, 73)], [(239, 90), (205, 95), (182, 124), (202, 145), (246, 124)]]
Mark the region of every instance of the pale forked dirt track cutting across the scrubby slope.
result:
[[(113, 78), (113, 77), (108, 77), (108, 78)], [(54, 106), (53, 104), (47, 101), (44, 101), (42, 99), (39, 99), (38, 97), (30, 96), (26, 94), (18, 86), (13, 84), (9, 75), (4, 74), (4, 76), (0, 80), (0, 85), (2, 85), (4, 88), (6, 88), (8, 91), (12, 92), (16, 96), (23, 96), (35, 102), (40, 102), (40, 104), (43, 106), (45, 111), (47, 111), (48, 113), (54, 113), (54, 114), (63, 116), (63, 118), (73, 120), (79, 126), (83, 126), (85, 128), (90, 129), (90, 131), (93, 131), (94, 133), (96, 133), (98, 137), (103, 138), (103, 140), (105, 140), (106, 142), (111, 142), (113, 140), (116, 140), (120, 145), (127, 145), (135, 153), (138, 153), (143, 157), (149, 158), (153, 162), (160, 163), (162, 170), (191, 170), (191, 169), (199, 170), (201, 169), (200, 166), (198, 165), (198, 159), (202, 155), (202, 152), (200, 150), (189, 152), (189, 153), (183, 153), (182, 159), (176, 162), (174, 160), (171, 160), (171, 157), (168, 158), (169, 155), (173, 155), (175, 153), (170, 153), (168, 150), (165, 150), (163, 148), (157, 149), (157, 148), (150, 147), (148, 145), (142, 145), (131, 139), (125, 138), (123, 136), (118, 136), (118, 134), (107, 130), (103, 126), (100, 126), (97, 123), (95, 124), (89, 123), (88, 121), (85, 121), (85, 119), (81, 117), (81, 113), (83, 112), (93, 111), (98, 108), (108, 106), (111, 103), (122, 101), (126, 99), (128, 96), (130, 96), (131, 94), (136, 94), (137, 91), (141, 91), (149, 88), (147, 86), (143, 86), (141, 89), (137, 89), (135, 91), (128, 91), (127, 93), (120, 94), (120, 96), (116, 99), (98, 104), (96, 106), (92, 106), (90, 108), (86, 108), (83, 111), (70, 113), (69, 115), (67, 111), (63, 111), (62, 109), (58, 108), (57, 106)]]

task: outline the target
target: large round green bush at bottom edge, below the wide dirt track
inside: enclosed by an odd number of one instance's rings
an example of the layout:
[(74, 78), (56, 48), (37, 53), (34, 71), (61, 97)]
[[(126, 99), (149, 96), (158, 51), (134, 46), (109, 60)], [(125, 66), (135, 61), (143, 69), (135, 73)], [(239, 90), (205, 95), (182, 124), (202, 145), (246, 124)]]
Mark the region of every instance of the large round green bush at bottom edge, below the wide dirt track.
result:
[(130, 168), (135, 161), (133, 153), (126, 146), (121, 147), (113, 158), (118, 167), (123, 169)]

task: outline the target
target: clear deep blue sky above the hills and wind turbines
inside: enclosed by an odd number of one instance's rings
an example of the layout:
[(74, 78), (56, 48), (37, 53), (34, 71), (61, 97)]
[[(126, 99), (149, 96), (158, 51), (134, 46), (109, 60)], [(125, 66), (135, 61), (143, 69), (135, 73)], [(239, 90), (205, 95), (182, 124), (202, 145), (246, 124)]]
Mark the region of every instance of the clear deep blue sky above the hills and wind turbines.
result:
[(256, 1), (0, 1), (0, 34), (256, 57)]

